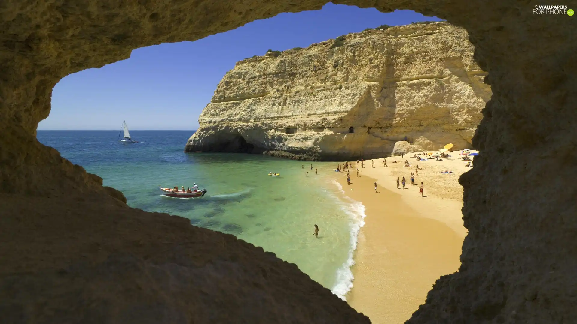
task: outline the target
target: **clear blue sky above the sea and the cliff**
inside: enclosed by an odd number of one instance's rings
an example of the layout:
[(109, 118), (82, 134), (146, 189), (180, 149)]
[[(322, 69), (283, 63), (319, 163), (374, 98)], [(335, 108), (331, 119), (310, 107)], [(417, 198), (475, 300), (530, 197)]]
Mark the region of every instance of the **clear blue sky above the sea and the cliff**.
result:
[(195, 42), (138, 48), (129, 59), (70, 74), (54, 87), (50, 116), (39, 130), (196, 130), (198, 115), (237, 61), (308, 47), (379, 25), (434, 20), (410, 10), (328, 3), (321, 10), (283, 13)]

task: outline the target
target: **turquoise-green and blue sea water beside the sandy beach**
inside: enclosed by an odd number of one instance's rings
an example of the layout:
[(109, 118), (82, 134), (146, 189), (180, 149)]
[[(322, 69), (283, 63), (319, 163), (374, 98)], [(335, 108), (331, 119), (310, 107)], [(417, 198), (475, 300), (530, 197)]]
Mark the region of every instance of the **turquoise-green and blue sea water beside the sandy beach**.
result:
[[(230, 233), (297, 264), (344, 299), (351, 287), (353, 250), (364, 208), (346, 201), (334, 179), (335, 163), (310, 163), (236, 153), (183, 153), (192, 131), (38, 131), (72, 163), (122, 191), (128, 205), (177, 214), (190, 223)], [(305, 165), (305, 169), (302, 165)], [(279, 172), (279, 177), (268, 172)], [(306, 177), (306, 171), (309, 176)], [(163, 187), (207, 189), (201, 198), (170, 198)], [(319, 237), (313, 225), (319, 225)]]

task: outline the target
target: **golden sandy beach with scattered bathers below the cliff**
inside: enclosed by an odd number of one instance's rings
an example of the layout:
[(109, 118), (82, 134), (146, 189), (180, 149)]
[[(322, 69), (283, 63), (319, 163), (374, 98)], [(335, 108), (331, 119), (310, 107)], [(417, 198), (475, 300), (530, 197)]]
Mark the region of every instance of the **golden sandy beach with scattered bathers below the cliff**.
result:
[[(366, 208), (355, 253), (353, 289), (347, 301), (375, 324), (409, 319), (425, 302), (434, 282), (460, 266), (467, 230), (461, 213), (463, 187), (458, 179), (469, 168), (464, 167), (466, 162), (458, 152), (439, 161), (417, 161), (413, 155), (387, 157), (387, 167), (383, 159), (375, 159), (374, 167), (372, 160), (366, 160), (364, 168), (354, 161), (350, 185), (346, 172), (336, 174), (344, 194)], [(404, 166), (405, 160), (410, 167)], [(417, 165), (417, 185), (411, 186), (410, 174)], [(453, 173), (440, 173), (445, 170)], [(403, 176), (406, 186), (397, 189), (396, 178)], [(419, 197), (421, 182), (424, 197)]]

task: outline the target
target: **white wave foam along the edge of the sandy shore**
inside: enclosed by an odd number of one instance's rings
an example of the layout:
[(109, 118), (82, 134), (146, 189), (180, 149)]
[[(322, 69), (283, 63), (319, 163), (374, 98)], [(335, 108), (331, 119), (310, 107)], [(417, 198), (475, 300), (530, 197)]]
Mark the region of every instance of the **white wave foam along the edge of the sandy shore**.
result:
[[(339, 184), (337, 182), (335, 183)], [(342, 187), (340, 188), (340, 190), (343, 191)], [(365, 206), (361, 202), (354, 201), (349, 197), (344, 197), (344, 199), (347, 200), (347, 204), (342, 206), (342, 210), (350, 217), (349, 257), (347, 258), (347, 261), (336, 270), (336, 284), (331, 289), (331, 292), (342, 300), (346, 300), (344, 296), (351, 290), (351, 288), (353, 288), (354, 276), (351, 266), (355, 264), (354, 252), (357, 250), (358, 233), (361, 231), (361, 227), (365, 225), (366, 217)]]

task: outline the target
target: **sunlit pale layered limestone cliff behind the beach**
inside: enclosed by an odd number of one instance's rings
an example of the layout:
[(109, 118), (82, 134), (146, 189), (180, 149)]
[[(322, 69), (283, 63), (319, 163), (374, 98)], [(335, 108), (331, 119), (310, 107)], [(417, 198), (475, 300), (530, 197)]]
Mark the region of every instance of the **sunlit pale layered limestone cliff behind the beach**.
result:
[(411, 24), (244, 59), (185, 151), (350, 160), (387, 156), (405, 138), (470, 148), (491, 91), (468, 37), (447, 22)]

